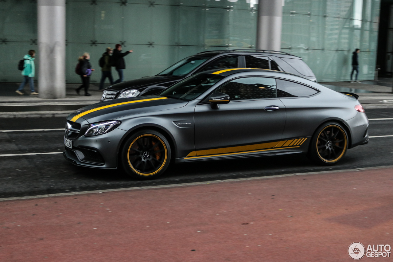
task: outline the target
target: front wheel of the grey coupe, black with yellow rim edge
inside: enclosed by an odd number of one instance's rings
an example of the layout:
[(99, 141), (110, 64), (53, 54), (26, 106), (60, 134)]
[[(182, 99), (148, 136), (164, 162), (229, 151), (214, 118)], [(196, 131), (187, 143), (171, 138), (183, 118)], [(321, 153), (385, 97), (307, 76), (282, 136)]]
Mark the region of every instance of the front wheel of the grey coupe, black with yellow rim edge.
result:
[(131, 135), (121, 149), (125, 172), (136, 179), (152, 179), (162, 175), (171, 162), (168, 140), (154, 130)]

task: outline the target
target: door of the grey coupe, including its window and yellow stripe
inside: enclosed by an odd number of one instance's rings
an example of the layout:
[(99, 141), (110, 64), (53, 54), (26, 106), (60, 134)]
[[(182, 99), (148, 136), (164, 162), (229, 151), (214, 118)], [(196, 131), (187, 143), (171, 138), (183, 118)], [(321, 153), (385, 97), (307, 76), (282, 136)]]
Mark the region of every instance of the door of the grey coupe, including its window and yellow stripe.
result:
[[(212, 109), (209, 103), (196, 105), (196, 155), (270, 148), (278, 143), (286, 116), (274, 78), (241, 77), (224, 83), (215, 92), (228, 94), (231, 101), (218, 109)], [(271, 106), (276, 108), (269, 109)]]

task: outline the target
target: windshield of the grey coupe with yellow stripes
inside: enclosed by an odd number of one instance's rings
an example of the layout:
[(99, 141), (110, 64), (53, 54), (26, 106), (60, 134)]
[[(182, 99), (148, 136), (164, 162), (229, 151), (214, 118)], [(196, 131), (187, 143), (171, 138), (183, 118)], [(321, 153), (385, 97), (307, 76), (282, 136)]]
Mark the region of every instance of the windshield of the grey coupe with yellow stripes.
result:
[(160, 96), (191, 101), (223, 78), (224, 76), (199, 73), (174, 84), (172, 87), (164, 90)]

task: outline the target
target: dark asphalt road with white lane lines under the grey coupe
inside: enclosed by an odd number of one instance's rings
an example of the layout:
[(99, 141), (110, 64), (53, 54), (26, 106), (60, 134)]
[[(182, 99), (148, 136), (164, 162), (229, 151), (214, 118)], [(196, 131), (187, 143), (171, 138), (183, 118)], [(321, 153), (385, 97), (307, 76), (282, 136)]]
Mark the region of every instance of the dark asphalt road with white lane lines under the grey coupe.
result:
[[(369, 118), (393, 118), (393, 109), (369, 109)], [(2, 118), (0, 130), (64, 128), (64, 118)], [(393, 135), (393, 120), (370, 121), (370, 136)], [(62, 152), (64, 131), (0, 132), (0, 155)], [(332, 167), (317, 166), (304, 155), (207, 161), (172, 166), (156, 180), (136, 181), (120, 170), (74, 166), (61, 154), (0, 156), (0, 198), (35, 196), (134, 186), (168, 185), (286, 173), (392, 165), (393, 137), (370, 138), (347, 151)]]

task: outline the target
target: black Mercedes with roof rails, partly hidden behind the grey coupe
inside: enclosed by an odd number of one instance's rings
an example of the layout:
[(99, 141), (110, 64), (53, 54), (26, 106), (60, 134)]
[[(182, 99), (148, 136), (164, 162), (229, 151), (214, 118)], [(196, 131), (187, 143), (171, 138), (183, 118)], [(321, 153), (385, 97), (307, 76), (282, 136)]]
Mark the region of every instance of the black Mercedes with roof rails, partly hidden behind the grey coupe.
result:
[(124, 81), (107, 87), (101, 101), (156, 94), (185, 77), (221, 68), (270, 69), (289, 72), (314, 82), (317, 81), (314, 73), (301, 57), (285, 52), (250, 49), (206, 51), (191, 55), (155, 76)]

